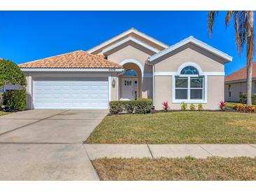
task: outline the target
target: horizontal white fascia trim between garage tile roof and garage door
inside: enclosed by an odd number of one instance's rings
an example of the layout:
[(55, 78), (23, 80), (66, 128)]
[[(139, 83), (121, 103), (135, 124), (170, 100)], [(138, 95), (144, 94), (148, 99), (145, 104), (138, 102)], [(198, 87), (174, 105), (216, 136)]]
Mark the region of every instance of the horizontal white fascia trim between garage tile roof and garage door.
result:
[(107, 68), (107, 69), (74, 69), (74, 68), (20, 68), (22, 71), (43, 71), (43, 72), (121, 72), (123, 69), (114, 69), (114, 68)]

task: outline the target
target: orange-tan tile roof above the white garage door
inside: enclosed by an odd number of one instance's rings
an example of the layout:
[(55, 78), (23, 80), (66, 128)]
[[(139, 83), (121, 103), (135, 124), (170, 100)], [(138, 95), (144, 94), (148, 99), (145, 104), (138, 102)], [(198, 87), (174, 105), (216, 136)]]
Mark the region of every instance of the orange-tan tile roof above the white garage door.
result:
[(120, 64), (83, 50), (19, 64), (21, 68), (122, 68)]

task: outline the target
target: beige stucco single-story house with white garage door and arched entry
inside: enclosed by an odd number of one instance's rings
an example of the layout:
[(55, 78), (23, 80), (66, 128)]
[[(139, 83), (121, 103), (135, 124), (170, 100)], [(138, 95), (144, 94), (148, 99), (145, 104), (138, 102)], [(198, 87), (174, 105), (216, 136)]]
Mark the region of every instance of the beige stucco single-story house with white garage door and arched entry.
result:
[(224, 64), (232, 57), (193, 36), (168, 46), (129, 29), (88, 51), (20, 64), (28, 109), (108, 109), (115, 100), (152, 98), (218, 109), (224, 100)]

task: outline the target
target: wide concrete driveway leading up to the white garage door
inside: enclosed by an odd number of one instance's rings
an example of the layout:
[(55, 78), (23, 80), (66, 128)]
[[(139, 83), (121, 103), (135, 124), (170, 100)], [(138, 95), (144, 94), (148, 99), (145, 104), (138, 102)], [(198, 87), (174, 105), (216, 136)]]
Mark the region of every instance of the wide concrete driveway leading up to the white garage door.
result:
[(41, 109), (0, 116), (0, 180), (98, 180), (82, 142), (106, 114)]

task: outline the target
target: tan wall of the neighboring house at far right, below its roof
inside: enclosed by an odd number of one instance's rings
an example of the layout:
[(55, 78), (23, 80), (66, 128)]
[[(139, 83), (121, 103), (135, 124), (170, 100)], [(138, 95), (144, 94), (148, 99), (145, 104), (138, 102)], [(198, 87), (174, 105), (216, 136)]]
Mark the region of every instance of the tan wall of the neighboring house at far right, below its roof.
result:
[[(231, 97), (229, 97), (229, 85)], [(247, 92), (246, 82), (241, 83), (226, 83), (225, 84), (225, 101), (239, 102), (239, 95), (241, 92)], [(252, 92), (256, 93), (256, 81), (252, 81)]]

